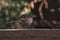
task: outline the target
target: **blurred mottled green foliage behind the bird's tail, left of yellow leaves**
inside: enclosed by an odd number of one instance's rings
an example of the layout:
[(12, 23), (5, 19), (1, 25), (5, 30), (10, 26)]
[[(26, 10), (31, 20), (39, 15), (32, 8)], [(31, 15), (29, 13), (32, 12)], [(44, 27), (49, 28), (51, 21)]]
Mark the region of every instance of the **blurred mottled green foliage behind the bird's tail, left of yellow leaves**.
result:
[[(8, 22), (20, 16), (20, 13), (24, 8), (24, 4), (27, 1), (28, 0), (0, 0), (0, 6), (2, 6), (2, 10), (0, 10), (0, 29), (9, 28)], [(21, 28), (19, 23), (16, 23), (15, 26), (16, 29)]]

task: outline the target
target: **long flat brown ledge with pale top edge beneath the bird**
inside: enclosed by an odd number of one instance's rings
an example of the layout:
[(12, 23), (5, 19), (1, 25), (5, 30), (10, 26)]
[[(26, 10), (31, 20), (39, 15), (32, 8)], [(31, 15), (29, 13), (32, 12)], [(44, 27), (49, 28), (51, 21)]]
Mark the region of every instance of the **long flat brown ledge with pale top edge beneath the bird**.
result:
[(0, 40), (60, 40), (60, 29), (0, 29)]

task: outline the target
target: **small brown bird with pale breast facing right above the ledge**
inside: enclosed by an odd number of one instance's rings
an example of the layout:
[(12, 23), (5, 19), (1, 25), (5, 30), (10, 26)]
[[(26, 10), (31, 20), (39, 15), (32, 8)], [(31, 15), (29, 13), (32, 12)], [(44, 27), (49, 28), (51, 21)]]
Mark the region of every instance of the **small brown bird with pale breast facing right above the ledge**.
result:
[(10, 21), (9, 24), (19, 23), (22, 26), (22, 28), (28, 28), (33, 23), (34, 17), (35, 15), (33, 14), (29, 14), (29, 15), (23, 14), (16, 20)]

